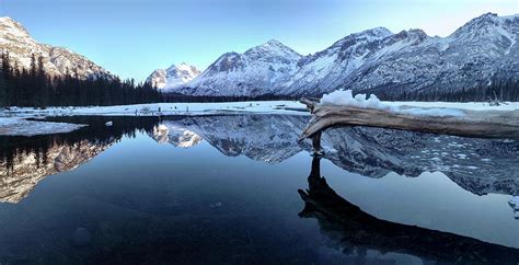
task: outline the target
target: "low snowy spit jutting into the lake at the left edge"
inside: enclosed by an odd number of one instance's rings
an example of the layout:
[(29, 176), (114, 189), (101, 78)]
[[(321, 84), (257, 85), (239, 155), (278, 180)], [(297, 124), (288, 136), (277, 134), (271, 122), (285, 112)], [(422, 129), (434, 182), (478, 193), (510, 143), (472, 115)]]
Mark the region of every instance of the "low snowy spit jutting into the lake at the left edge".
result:
[(0, 136), (36, 136), (62, 134), (77, 130), (86, 125), (26, 120), (23, 118), (0, 117)]

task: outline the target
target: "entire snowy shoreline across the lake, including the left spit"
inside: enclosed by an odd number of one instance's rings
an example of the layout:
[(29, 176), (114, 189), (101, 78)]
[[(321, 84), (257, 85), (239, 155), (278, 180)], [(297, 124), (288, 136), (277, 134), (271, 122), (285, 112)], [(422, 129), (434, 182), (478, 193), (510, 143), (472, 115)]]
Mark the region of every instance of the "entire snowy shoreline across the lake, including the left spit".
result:
[[(488, 103), (453, 102), (381, 102), (384, 105), (406, 108), (454, 108), (470, 111), (514, 111), (519, 102), (489, 106)], [(117, 106), (88, 107), (11, 107), (0, 111), (0, 136), (34, 136), (69, 132), (84, 125), (26, 120), (26, 118), (56, 116), (158, 116), (158, 115), (223, 115), (223, 114), (286, 114), (310, 115), (305, 105), (296, 101), (251, 101), (220, 103), (150, 103)]]

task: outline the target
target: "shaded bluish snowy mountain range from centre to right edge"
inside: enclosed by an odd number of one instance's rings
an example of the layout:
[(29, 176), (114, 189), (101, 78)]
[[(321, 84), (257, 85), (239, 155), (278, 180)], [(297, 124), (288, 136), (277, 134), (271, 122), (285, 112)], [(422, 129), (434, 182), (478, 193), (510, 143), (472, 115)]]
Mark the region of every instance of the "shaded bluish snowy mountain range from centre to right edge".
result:
[(355, 33), (314, 55), (276, 41), (222, 55), (176, 90), (187, 95), (321, 95), (337, 89), (367, 93), (455, 92), (519, 76), (519, 15), (487, 13), (447, 37), (383, 27)]

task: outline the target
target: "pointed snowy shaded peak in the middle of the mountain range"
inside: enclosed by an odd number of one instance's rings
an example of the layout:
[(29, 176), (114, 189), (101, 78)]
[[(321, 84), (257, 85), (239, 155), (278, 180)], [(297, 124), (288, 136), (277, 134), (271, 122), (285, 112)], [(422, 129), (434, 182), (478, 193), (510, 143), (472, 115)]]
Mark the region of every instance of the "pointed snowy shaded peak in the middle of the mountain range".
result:
[(227, 53), (176, 92), (189, 95), (250, 95), (277, 93), (292, 76), (301, 55), (278, 41), (243, 54)]

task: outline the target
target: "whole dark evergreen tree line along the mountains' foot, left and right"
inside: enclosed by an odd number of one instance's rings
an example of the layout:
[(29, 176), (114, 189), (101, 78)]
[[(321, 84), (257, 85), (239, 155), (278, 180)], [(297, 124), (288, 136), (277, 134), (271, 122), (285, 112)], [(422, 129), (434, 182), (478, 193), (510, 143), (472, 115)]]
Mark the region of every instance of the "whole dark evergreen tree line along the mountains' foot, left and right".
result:
[[(130, 79), (96, 76), (81, 79), (77, 71), (60, 77), (45, 72), (43, 57), (32, 56), (28, 69), (11, 64), (9, 53), (2, 53), (0, 73), (0, 106), (88, 106), (127, 105), (157, 102), (233, 102), (299, 100), (303, 95), (260, 96), (191, 96), (180, 93), (161, 93), (150, 82), (137, 83)], [(380, 89), (373, 93), (385, 101), (448, 101), (485, 102), (519, 101), (517, 79), (491, 80), (489, 84), (464, 89), (424, 89), (402, 91)], [(322, 96), (322, 95), (315, 95)]]

